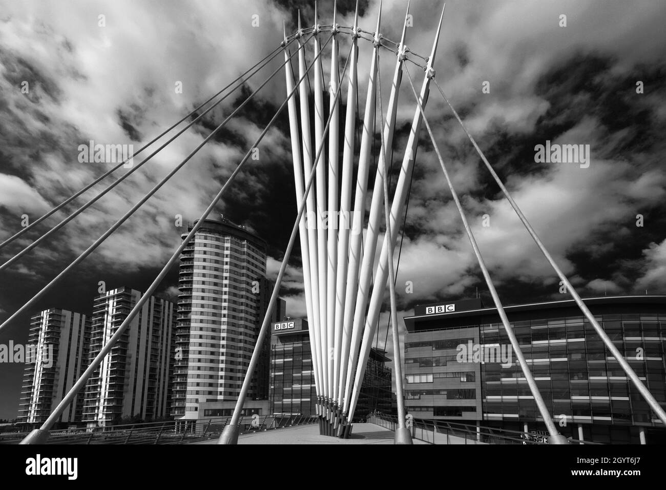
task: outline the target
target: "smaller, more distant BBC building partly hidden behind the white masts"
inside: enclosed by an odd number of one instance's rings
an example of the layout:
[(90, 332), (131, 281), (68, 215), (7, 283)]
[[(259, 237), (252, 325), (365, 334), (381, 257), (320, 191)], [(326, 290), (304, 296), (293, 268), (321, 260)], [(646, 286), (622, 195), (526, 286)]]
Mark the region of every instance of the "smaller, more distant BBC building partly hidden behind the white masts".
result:
[[(317, 395), (306, 319), (272, 323), (270, 337), (270, 413), (315, 415)], [(384, 351), (371, 349), (354, 419), (373, 411), (391, 413), (391, 369)]]

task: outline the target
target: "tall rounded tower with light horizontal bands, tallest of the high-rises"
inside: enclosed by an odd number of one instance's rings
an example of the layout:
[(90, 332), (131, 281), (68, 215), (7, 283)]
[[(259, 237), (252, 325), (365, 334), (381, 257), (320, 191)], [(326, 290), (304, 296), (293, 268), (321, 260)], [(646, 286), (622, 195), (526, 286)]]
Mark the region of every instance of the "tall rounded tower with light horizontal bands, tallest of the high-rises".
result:
[[(222, 218), (207, 219), (182, 251), (171, 410), (177, 418), (196, 419), (200, 403), (238, 398), (272, 289), (265, 247)], [(268, 344), (265, 357), (252, 399), (268, 396)]]

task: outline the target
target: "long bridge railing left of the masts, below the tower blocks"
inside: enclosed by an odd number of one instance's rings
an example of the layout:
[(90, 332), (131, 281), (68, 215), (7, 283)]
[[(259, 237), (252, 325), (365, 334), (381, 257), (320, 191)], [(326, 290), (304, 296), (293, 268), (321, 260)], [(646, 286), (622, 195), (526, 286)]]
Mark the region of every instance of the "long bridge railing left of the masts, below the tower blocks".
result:
[[(188, 444), (219, 437), (231, 417), (81, 427), (49, 431), (47, 444)], [(316, 415), (248, 415), (240, 433), (254, 433), (317, 422)], [(29, 432), (0, 434), (0, 444), (18, 444)]]

